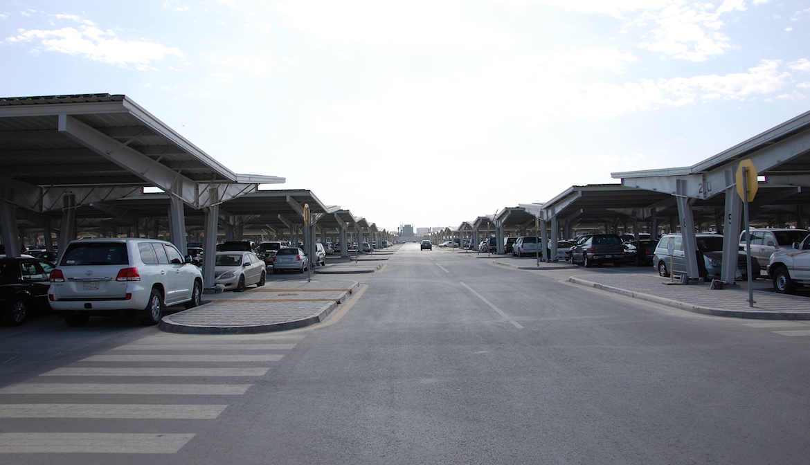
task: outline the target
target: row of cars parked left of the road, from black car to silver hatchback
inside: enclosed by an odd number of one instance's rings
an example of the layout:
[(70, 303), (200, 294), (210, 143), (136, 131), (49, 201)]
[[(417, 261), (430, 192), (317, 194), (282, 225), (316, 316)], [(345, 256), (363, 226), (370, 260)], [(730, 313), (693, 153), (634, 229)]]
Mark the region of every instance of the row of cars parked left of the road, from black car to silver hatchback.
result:
[[(202, 247), (191, 243), (189, 248), (191, 253), (183, 255), (168, 241), (121, 237), (71, 241), (58, 262), (29, 254), (0, 257), (0, 322), (17, 326), (32, 310), (53, 309), (70, 326), (112, 314), (155, 325), (167, 306), (200, 304), (202, 254), (195, 259), (192, 253)], [(325, 263), (324, 245), (318, 243), (316, 250)], [(226, 290), (264, 285), (269, 268), (303, 273), (309, 258), (286, 243), (262, 252), (247, 241), (217, 245), (215, 284)]]

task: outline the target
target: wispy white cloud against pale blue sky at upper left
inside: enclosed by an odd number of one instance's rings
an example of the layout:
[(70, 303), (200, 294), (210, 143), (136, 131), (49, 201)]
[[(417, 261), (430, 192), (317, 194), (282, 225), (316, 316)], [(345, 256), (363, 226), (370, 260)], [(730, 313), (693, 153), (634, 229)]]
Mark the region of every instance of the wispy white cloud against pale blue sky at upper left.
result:
[(96, 62), (122, 66), (135, 66), (139, 70), (151, 68), (151, 62), (162, 60), (169, 55), (182, 57), (180, 49), (147, 41), (122, 41), (113, 31), (102, 31), (87, 21), (74, 15), (57, 15), (58, 19), (70, 19), (84, 24), (79, 28), (53, 30), (19, 30), (16, 36), (6, 38), (6, 43), (22, 44), (32, 42), (36, 50), (66, 53), (89, 58)]

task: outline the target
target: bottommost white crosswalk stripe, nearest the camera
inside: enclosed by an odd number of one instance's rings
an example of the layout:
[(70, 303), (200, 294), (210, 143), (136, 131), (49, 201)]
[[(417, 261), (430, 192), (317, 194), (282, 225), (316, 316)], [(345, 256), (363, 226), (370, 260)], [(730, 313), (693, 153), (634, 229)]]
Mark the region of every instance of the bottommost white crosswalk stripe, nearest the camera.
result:
[(0, 454), (176, 454), (194, 433), (0, 433)]

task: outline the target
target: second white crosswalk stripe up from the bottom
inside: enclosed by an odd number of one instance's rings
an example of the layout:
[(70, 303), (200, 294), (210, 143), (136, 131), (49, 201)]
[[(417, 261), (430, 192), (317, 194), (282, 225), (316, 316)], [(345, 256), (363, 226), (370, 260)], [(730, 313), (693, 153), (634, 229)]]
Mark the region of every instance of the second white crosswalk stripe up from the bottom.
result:
[(213, 420), (227, 405), (152, 405), (114, 403), (6, 403), (0, 418), (117, 418)]

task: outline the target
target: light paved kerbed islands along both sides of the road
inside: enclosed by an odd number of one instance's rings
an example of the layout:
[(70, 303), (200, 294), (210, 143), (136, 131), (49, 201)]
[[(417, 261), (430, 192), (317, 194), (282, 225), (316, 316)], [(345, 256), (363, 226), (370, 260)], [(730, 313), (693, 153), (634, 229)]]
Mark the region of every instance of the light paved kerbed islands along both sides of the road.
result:
[[(359, 289), (356, 281), (319, 275), (373, 273), (385, 266), (394, 251), (360, 255), (360, 259), (336, 258), (326, 267), (316, 268), (313, 279), (268, 280), (262, 288), (246, 292), (205, 294), (207, 303), (194, 309), (168, 315), (160, 322), (163, 331), (184, 334), (250, 334), (284, 331), (322, 322), (341, 302)], [(768, 320), (810, 320), (810, 298), (773, 292), (768, 279), (753, 283), (754, 305), (748, 304), (748, 283), (738, 281), (723, 289), (709, 283), (689, 285), (661, 278), (650, 272), (604, 272), (599, 268), (585, 274), (584, 268), (565, 262), (540, 262), (494, 254), (467, 254), (469, 258), (489, 259), (497, 267), (521, 270), (570, 271), (570, 283), (630, 296), (642, 301), (668, 305), (698, 314)], [(580, 270), (580, 271), (578, 271)], [(590, 269), (589, 269), (590, 270)], [(608, 267), (605, 268), (608, 271)], [(637, 268), (641, 271), (642, 268)], [(625, 271), (625, 270), (622, 270)], [(671, 284), (673, 283), (674, 284)]]

